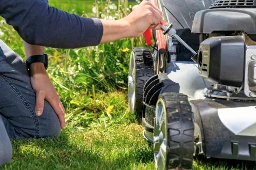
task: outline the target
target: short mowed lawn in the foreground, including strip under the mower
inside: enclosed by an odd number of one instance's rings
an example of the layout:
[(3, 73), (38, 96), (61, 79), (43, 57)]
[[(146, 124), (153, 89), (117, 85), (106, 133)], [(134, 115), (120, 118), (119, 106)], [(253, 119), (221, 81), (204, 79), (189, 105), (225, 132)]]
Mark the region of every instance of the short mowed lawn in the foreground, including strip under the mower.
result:
[[(153, 145), (143, 138), (136, 116), (127, 112), (126, 96), (118, 91), (106, 96), (106, 104), (115, 103), (111, 122), (99, 119), (85, 129), (69, 124), (58, 138), (12, 140), (13, 160), (3, 169), (155, 169)], [(256, 168), (254, 162), (204, 157), (193, 164), (195, 170)]]

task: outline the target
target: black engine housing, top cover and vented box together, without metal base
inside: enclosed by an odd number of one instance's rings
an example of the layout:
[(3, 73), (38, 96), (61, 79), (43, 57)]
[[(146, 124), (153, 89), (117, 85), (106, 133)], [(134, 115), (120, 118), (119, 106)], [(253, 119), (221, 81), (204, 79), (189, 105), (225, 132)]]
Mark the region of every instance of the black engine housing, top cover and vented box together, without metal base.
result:
[(256, 43), (256, 0), (216, 0), (195, 14), (191, 32), (209, 37), (200, 39), (199, 74), (213, 83), (241, 87), (245, 39)]

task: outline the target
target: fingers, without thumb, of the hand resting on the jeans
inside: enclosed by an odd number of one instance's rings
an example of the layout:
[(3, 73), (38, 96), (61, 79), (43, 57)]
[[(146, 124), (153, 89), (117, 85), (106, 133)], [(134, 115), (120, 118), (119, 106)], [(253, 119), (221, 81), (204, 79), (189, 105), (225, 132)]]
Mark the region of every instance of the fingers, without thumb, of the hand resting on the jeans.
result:
[(60, 101), (59, 96), (56, 94), (56, 97), (54, 97), (51, 100), (47, 100), (49, 104), (53, 107), (55, 113), (57, 114), (61, 129), (64, 129), (65, 126), (65, 109)]

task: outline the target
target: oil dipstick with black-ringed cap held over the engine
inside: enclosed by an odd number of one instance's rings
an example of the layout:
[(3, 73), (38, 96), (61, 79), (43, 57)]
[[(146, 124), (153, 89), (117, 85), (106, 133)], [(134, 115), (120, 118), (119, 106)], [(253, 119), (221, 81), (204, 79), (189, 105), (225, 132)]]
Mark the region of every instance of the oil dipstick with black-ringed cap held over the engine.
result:
[(170, 24), (168, 27), (162, 25), (161, 27), (163, 29), (163, 34), (168, 34), (170, 37), (174, 37), (176, 40), (178, 40), (183, 46), (185, 46), (189, 51), (191, 51), (194, 55), (197, 54), (197, 52), (195, 52), (191, 47), (189, 47), (189, 45), (187, 45), (187, 43), (185, 43), (185, 41), (183, 41), (181, 39), (181, 37), (179, 37), (176, 34), (176, 30), (174, 28), (172, 28), (172, 24)]

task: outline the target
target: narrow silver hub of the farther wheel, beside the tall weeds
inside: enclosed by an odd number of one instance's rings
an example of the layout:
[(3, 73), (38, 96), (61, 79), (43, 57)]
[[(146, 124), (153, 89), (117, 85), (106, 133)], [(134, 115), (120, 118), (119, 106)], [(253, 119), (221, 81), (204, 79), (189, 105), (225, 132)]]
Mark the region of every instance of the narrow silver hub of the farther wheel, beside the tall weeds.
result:
[(128, 101), (129, 101), (129, 110), (135, 110), (135, 101), (136, 101), (136, 68), (135, 68), (135, 56), (134, 52), (131, 52), (130, 56), (130, 66), (129, 66), (129, 75), (128, 75)]

